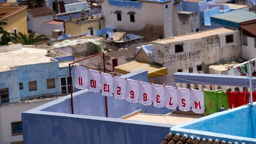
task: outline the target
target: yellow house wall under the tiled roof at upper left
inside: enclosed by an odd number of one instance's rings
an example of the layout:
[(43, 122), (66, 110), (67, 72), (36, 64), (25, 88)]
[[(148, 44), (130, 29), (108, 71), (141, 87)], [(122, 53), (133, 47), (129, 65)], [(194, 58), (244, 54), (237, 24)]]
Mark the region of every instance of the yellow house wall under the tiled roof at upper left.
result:
[(27, 22), (26, 9), (6, 19), (7, 20), (2, 20), (2, 22), (7, 23), (7, 25), (2, 26), (2, 28), (4, 28), (5, 31), (8, 32), (10, 30), (11, 33), (14, 33), (14, 28), (17, 28), (17, 33), (22, 32), (23, 34), (28, 35), (28, 22)]

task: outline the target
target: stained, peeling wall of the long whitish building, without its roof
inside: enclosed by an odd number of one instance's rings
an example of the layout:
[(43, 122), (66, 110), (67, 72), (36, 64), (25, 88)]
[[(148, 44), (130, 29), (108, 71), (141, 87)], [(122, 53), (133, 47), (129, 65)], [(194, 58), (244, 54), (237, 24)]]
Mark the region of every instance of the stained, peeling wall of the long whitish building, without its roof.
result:
[[(226, 35), (233, 34), (233, 41), (226, 43)], [(175, 45), (183, 44), (183, 52), (175, 53)], [(240, 32), (234, 31), (222, 35), (209, 36), (169, 44), (152, 42), (153, 58), (157, 63), (167, 68), (167, 74), (172, 75), (182, 69), (182, 72), (208, 73), (208, 66), (219, 62), (229, 62), (241, 58)], [(197, 71), (202, 66), (202, 71)]]

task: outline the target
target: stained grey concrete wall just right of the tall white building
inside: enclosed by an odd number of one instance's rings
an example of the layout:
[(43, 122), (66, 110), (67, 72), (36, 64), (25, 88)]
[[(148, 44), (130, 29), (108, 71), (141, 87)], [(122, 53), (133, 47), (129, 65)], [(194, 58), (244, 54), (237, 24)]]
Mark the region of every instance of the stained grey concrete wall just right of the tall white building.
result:
[(200, 31), (200, 13), (183, 12), (176, 14), (176, 35)]

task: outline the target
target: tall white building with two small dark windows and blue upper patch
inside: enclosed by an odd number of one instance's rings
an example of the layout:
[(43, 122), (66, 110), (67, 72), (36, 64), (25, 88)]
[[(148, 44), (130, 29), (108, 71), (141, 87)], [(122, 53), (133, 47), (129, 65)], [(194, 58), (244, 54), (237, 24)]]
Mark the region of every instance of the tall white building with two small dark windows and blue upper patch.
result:
[(115, 28), (146, 37), (147, 41), (174, 35), (174, 1), (102, 1), (106, 28)]

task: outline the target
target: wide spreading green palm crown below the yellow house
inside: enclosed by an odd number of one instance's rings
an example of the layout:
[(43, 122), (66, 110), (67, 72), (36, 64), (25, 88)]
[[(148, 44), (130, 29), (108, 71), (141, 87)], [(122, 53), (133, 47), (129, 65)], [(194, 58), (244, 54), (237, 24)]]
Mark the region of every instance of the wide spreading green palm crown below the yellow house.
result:
[(34, 38), (35, 33), (36, 32), (31, 32), (29, 36), (27, 36), (26, 34), (22, 34), (22, 32), (18, 32), (18, 34), (12, 33), (11, 40), (12, 42), (20, 43), (23, 45), (32, 45), (32, 44), (39, 43), (41, 41), (50, 40), (45, 35), (40, 35)]

